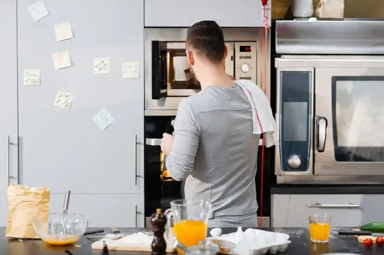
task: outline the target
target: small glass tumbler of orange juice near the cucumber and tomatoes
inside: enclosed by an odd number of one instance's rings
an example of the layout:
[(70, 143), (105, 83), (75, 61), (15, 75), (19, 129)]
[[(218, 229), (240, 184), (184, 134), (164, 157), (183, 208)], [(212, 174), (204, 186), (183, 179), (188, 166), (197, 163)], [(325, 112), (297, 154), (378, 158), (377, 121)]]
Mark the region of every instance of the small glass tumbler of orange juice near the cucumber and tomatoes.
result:
[(327, 243), (331, 232), (331, 215), (309, 214), (309, 234), (313, 243)]

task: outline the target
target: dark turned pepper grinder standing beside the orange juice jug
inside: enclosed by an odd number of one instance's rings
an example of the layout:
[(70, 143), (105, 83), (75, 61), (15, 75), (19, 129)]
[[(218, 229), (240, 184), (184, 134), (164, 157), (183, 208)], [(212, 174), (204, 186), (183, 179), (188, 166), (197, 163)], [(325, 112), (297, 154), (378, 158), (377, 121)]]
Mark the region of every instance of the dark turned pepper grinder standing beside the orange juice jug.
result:
[(166, 216), (162, 209), (156, 209), (156, 214), (153, 214), (150, 222), (152, 223), (153, 240), (152, 240), (152, 255), (166, 254), (166, 240), (164, 232), (166, 230)]

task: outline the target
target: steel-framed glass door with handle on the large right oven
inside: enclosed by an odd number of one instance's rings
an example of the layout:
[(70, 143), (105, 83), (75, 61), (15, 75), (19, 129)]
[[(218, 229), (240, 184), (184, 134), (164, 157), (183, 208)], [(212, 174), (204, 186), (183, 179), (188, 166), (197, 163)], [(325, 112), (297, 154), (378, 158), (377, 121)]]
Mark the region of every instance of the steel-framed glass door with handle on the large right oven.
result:
[(316, 68), (316, 175), (383, 175), (383, 95), (383, 68)]

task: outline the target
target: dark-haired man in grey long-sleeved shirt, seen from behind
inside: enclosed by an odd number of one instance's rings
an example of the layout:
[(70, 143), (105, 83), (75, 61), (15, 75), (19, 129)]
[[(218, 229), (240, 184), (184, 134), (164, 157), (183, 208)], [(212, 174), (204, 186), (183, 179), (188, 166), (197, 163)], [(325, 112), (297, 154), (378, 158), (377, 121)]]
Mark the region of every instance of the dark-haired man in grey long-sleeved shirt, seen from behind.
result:
[(189, 28), (186, 55), (202, 91), (180, 103), (174, 135), (163, 135), (166, 167), (173, 179), (186, 180), (186, 199), (211, 202), (209, 227), (256, 227), (260, 134), (252, 133), (245, 91), (225, 73), (227, 48), (215, 21)]

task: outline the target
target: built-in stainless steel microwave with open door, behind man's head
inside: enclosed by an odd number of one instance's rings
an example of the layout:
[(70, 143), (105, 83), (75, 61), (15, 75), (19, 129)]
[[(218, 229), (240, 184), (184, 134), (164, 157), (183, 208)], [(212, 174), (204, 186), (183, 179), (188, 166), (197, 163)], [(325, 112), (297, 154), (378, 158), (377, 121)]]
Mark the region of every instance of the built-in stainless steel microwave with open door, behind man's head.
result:
[[(259, 64), (263, 59), (259, 44), (261, 35), (264, 35), (263, 29), (222, 28), (228, 48), (224, 66), (228, 75), (261, 84), (261, 74), (270, 74), (269, 52), (266, 53), (268, 70), (264, 70), (265, 66)], [(200, 84), (191, 75), (186, 61), (186, 30), (187, 28), (145, 29), (146, 115), (175, 115), (181, 100), (200, 91)]]

